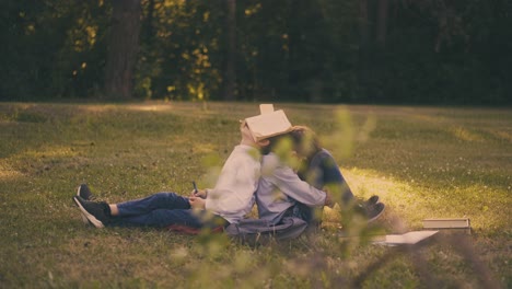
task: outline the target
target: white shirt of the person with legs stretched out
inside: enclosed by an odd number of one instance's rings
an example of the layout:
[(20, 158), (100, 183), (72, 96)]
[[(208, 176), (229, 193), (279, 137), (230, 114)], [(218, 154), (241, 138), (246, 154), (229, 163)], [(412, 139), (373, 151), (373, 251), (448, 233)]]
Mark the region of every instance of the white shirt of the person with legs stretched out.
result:
[(217, 181), (208, 190), (206, 209), (230, 223), (237, 222), (254, 206), (254, 193), (260, 176), (260, 153), (257, 149), (238, 144), (231, 152)]

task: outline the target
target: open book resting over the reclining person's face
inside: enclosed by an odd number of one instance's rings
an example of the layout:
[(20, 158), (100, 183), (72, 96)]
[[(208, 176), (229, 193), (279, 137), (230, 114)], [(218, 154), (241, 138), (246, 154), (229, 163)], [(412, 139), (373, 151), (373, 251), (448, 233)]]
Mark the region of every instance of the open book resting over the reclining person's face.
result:
[(282, 109), (245, 118), (245, 123), (256, 141), (282, 135), (292, 129)]

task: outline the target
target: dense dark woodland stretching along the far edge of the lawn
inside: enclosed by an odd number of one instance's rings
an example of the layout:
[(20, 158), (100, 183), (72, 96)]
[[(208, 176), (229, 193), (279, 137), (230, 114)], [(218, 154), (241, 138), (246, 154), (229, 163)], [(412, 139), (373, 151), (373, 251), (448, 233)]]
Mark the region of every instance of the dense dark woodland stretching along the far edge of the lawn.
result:
[(505, 104), (509, 0), (16, 0), (0, 99)]

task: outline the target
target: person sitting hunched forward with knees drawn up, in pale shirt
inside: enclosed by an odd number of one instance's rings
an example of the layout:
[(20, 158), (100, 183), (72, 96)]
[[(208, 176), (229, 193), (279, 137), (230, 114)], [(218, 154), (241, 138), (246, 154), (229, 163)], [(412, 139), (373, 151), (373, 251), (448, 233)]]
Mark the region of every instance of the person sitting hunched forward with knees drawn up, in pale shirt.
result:
[[(361, 204), (356, 201), (334, 158), (319, 147), (311, 129), (295, 126), (269, 141), (256, 192), (260, 219), (278, 224), (284, 217), (298, 217), (313, 232), (311, 229), (319, 226), (323, 207), (335, 203), (342, 210), (354, 209), (368, 222), (383, 212), (384, 204), (379, 203), (377, 196)], [(294, 167), (302, 167), (302, 180)]]

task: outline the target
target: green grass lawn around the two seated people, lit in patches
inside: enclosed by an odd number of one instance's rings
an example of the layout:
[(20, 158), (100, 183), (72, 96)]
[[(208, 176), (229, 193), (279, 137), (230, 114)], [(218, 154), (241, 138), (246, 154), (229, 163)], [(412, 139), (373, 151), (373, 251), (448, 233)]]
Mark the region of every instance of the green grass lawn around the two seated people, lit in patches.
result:
[(80, 183), (112, 203), (211, 187), (258, 105), (0, 103), (0, 288), (350, 288), (361, 276), (364, 288), (512, 288), (512, 109), (276, 107), (317, 131), (358, 196), (381, 196), (381, 229), (467, 217), (473, 233), (399, 252), (340, 239), (337, 210), (316, 238), (256, 248), (95, 229), (71, 201)]

